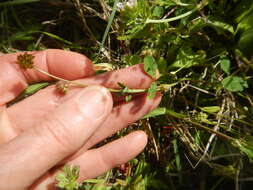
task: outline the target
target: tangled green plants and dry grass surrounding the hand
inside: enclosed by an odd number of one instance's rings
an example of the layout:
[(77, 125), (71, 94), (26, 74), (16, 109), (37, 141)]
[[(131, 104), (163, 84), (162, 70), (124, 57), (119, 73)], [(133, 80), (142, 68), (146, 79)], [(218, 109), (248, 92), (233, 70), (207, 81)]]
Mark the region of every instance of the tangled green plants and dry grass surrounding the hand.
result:
[(158, 109), (117, 134), (146, 130), (145, 152), (80, 189), (250, 189), (252, 0), (1, 1), (0, 51), (47, 48), (114, 69), (144, 62), (166, 91)]

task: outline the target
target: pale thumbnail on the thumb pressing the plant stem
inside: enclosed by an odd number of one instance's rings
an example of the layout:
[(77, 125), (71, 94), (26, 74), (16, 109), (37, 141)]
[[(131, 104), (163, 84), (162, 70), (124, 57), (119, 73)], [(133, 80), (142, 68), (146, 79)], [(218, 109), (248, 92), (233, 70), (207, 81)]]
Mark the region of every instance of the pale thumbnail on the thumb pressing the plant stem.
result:
[(110, 94), (104, 87), (87, 87), (80, 94), (77, 103), (79, 109), (86, 117), (98, 120), (108, 114)]

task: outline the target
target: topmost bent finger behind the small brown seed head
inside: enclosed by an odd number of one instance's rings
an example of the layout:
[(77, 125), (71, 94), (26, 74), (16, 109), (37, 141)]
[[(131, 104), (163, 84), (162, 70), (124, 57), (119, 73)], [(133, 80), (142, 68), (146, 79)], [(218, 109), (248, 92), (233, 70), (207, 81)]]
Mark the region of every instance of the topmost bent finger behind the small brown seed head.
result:
[[(21, 53), (0, 56), (0, 105), (13, 100), (29, 83), (52, 80), (33, 69), (20, 69), (15, 63)], [(57, 77), (75, 80), (94, 73), (91, 61), (75, 52), (49, 49), (31, 53), (35, 66)]]

